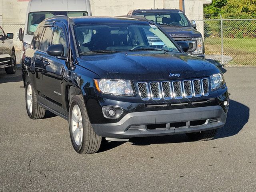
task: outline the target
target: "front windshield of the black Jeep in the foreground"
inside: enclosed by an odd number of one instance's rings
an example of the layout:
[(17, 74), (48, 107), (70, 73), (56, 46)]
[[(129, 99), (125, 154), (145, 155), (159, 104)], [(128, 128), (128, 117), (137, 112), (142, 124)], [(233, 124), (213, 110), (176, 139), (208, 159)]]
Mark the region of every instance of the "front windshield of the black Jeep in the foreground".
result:
[(97, 24), (75, 26), (80, 54), (155, 50), (179, 52), (155, 25)]

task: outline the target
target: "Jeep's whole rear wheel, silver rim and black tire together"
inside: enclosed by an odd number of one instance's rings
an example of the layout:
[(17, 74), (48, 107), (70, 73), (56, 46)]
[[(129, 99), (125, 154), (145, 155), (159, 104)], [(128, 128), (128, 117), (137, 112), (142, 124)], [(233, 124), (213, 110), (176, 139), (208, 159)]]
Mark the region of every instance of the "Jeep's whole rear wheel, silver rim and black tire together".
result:
[(27, 82), (26, 84), (26, 109), (28, 116), (31, 119), (42, 119), (44, 118), (46, 109), (39, 106), (37, 102), (37, 96), (34, 88)]

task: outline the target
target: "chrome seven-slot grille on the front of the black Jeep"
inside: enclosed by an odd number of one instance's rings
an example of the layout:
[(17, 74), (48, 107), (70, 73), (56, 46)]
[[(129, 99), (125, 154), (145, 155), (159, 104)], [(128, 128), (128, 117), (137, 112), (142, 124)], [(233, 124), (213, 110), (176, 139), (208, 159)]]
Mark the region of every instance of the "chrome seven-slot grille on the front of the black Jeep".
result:
[(208, 96), (210, 93), (208, 78), (194, 80), (174, 80), (163, 82), (138, 82), (139, 95), (142, 100), (170, 100), (172, 98), (192, 98)]

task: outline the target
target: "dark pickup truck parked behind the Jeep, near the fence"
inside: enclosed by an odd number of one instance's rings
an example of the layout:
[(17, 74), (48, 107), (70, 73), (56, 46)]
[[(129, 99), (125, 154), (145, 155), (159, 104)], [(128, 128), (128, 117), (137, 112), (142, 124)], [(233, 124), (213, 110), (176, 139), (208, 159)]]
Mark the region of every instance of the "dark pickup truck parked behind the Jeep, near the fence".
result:
[[(202, 34), (196, 30), (196, 22), (189, 22), (186, 15), (177, 9), (137, 9), (128, 15), (143, 16), (162, 27), (175, 41), (185, 41), (189, 44), (188, 54), (205, 58)], [(148, 36), (152, 47), (161, 46), (154, 36)]]

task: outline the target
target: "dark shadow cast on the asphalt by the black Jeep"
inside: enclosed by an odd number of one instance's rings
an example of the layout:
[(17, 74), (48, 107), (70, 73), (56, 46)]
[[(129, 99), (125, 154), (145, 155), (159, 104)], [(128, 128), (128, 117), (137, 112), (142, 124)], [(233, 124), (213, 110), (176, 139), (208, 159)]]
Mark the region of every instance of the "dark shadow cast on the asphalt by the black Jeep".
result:
[[(230, 137), (238, 134), (244, 125), (248, 122), (250, 116), (250, 108), (230, 100), (230, 108), (228, 111), (228, 118), (224, 127), (218, 130), (217, 135), (214, 139)], [(181, 135), (170, 135), (170, 136), (156, 136), (156, 137), (141, 137), (141, 138), (130, 138), (128, 142), (132, 145), (147, 146), (151, 144), (168, 144), (168, 143), (180, 143), (180, 142), (191, 142), (186, 134)], [(125, 142), (109, 142), (104, 145), (100, 152), (116, 148)]]

